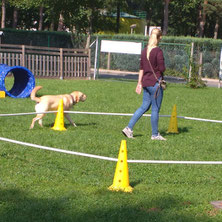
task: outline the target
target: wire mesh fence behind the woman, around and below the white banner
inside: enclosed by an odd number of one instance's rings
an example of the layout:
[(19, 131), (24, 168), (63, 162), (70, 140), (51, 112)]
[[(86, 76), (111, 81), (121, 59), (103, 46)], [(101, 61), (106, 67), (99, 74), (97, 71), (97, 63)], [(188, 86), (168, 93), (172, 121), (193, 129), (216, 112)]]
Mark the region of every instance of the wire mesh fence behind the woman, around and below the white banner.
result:
[[(138, 72), (140, 55), (100, 52), (101, 41), (102, 39), (98, 40), (98, 69)], [(147, 44), (147, 42), (142, 40), (136, 42), (142, 42), (143, 46)], [(202, 44), (200, 46), (198, 43), (160, 42), (159, 47), (164, 53), (165, 75), (188, 78), (191, 75), (190, 61), (193, 61), (193, 64), (197, 67), (197, 73), (195, 74), (198, 74), (200, 77), (218, 79), (221, 45)], [(91, 67), (94, 67), (95, 44), (91, 47), (91, 50)]]

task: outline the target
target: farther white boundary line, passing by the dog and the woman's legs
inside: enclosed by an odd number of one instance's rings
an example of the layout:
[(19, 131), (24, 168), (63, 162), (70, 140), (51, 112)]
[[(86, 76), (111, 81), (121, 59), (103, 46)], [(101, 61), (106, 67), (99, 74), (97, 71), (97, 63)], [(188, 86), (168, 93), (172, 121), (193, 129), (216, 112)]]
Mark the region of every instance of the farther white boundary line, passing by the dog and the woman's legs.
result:
[[(22, 116), (22, 115), (36, 115), (42, 113), (57, 113), (58, 111), (48, 111), (48, 112), (31, 112), (31, 113), (12, 113), (12, 114), (0, 114), (2, 116)], [(64, 113), (72, 113), (72, 114), (87, 114), (87, 115), (107, 115), (107, 116), (132, 116), (131, 113), (105, 113), (105, 112), (82, 112), (82, 111), (64, 111)], [(143, 114), (143, 116), (151, 116), (150, 114)], [(160, 117), (171, 117), (171, 115), (160, 115)], [(222, 123), (222, 120), (211, 120), (211, 119), (202, 119), (202, 118), (195, 118), (195, 117), (187, 117), (187, 116), (177, 116), (180, 119), (187, 119), (187, 120), (196, 120), (196, 121), (203, 121), (203, 122), (212, 122), (212, 123)]]

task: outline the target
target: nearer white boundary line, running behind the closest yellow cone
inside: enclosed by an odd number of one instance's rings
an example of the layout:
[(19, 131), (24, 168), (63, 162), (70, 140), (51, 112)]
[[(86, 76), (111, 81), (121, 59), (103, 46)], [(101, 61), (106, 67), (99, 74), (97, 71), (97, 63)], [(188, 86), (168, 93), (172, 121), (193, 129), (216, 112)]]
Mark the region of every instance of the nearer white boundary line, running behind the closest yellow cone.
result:
[[(76, 156), (84, 156), (84, 157), (109, 160), (109, 161), (115, 161), (115, 162), (118, 161), (118, 159), (116, 159), (116, 158), (74, 152), (74, 151), (57, 149), (57, 148), (52, 148), (52, 147), (47, 147), (47, 146), (40, 146), (40, 145), (21, 142), (21, 141), (12, 140), (12, 139), (8, 139), (8, 138), (4, 138), (4, 137), (0, 137), (0, 140), (5, 141), (5, 142), (23, 145), (23, 146), (29, 146), (29, 147), (34, 147), (34, 148), (38, 148), (38, 149), (43, 149), (43, 150), (50, 150), (50, 151), (59, 152), (59, 153), (66, 153), (66, 154), (72, 154), (72, 155), (76, 155)], [(200, 165), (200, 164), (201, 165), (204, 165), (204, 164), (205, 165), (221, 165), (222, 164), (222, 161), (127, 160), (127, 162), (128, 163), (150, 163), (150, 164), (195, 164), (195, 165)]]

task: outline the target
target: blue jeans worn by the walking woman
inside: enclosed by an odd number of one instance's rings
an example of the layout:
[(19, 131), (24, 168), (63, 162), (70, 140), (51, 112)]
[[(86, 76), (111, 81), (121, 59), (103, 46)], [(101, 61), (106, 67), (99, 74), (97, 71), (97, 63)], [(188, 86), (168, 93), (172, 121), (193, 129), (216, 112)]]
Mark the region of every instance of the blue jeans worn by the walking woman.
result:
[(133, 114), (128, 127), (132, 130), (136, 122), (140, 117), (149, 110), (152, 106), (151, 112), (151, 126), (152, 136), (158, 135), (158, 122), (159, 122), (159, 111), (163, 99), (163, 89), (156, 83), (154, 86), (148, 86), (143, 88), (143, 104)]

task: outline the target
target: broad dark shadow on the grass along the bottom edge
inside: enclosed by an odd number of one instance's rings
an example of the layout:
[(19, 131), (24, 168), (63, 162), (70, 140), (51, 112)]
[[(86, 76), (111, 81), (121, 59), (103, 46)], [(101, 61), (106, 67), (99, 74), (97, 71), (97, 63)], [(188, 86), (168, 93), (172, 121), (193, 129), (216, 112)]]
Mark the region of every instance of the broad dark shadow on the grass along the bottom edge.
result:
[(134, 194), (122, 192), (89, 194), (73, 190), (60, 198), (49, 198), (47, 193), (45, 198), (36, 198), (18, 189), (5, 189), (0, 190), (0, 206), (2, 222), (219, 221), (204, 212), (188, 211), (189, 207), (197, 207), (195, 203), (175, 194), (136, 199)]

